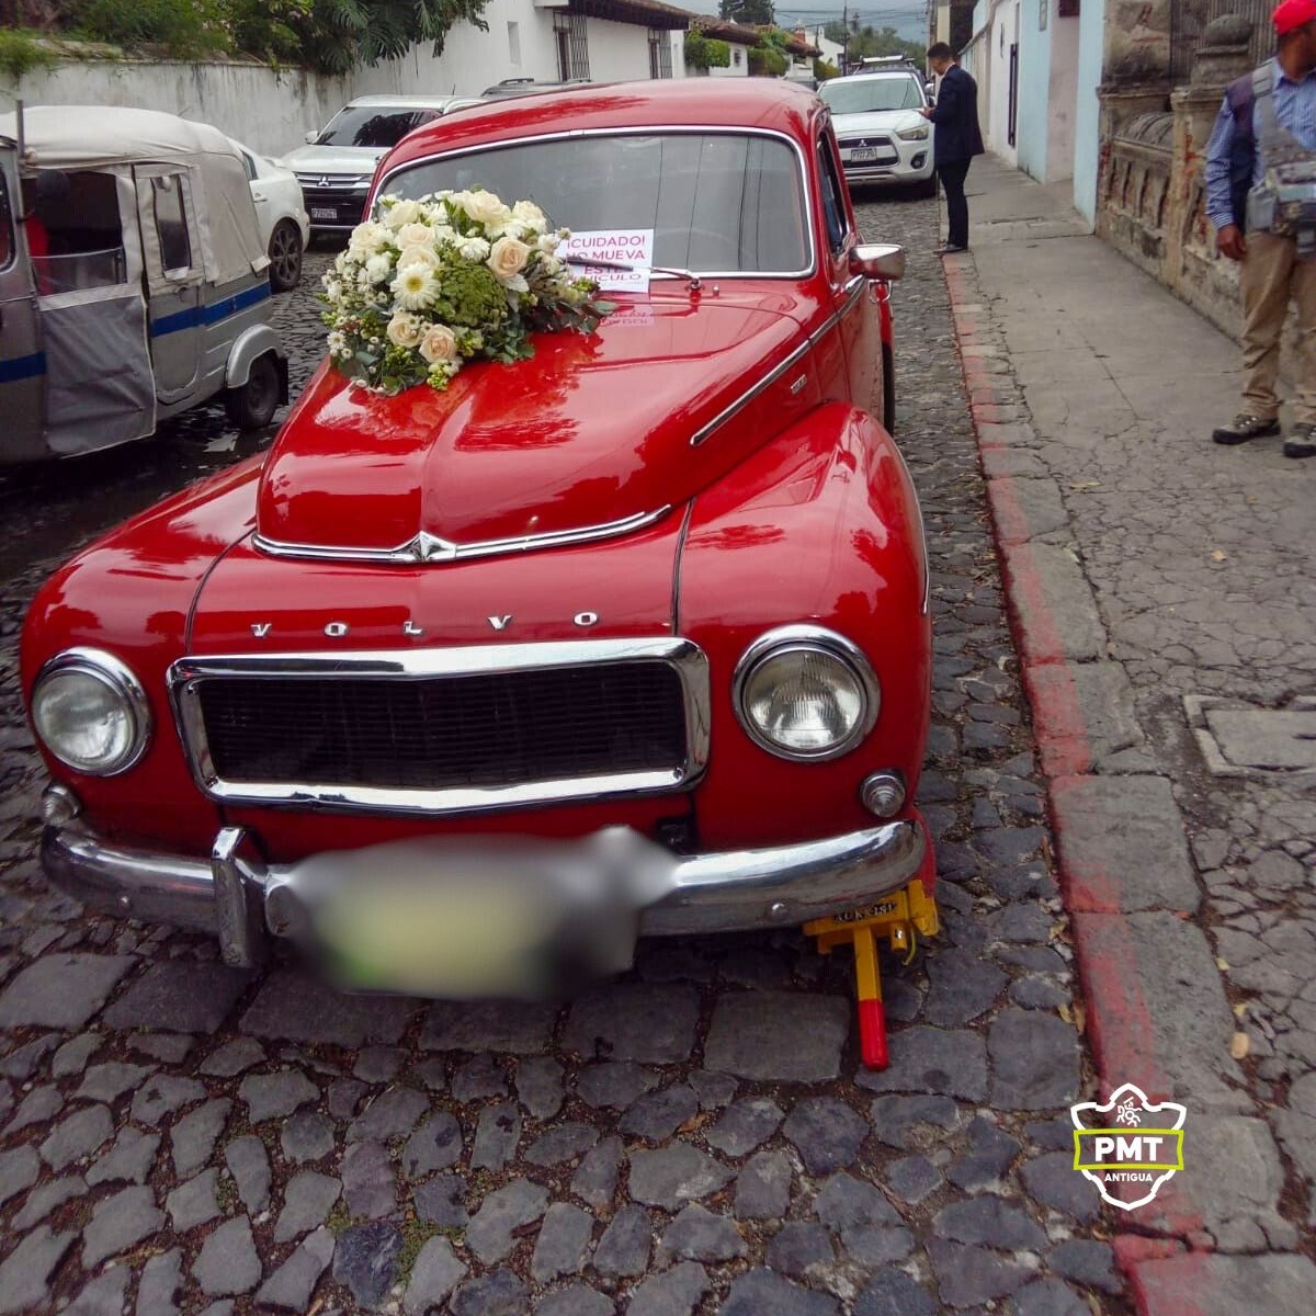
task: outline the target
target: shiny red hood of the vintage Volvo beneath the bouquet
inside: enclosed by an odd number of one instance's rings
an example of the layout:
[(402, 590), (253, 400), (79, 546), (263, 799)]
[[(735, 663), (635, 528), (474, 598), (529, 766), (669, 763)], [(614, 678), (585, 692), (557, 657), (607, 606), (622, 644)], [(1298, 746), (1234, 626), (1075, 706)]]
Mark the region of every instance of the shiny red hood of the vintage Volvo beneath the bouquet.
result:
[(655, 292), (597, 333), (538, 334), (529, 361), (395, 397), (321, 366), (266, 463), (258, 532), (372, 550), (424, 533), (480, 551), (678, 505), (816, 404), (783, 379), (691, 445), (801, 342), (797, 313), (775, 290)]

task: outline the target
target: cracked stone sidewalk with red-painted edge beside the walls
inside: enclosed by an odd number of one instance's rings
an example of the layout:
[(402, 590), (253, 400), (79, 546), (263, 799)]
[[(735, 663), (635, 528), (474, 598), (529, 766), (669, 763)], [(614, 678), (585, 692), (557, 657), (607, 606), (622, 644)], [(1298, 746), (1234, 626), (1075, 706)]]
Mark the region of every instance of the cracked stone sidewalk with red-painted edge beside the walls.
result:
[(1188, 1108), (1186, 1170), (1116, 1254), (1152, 1316), (1307, 1312), (1316, 462), (1209, 441), (1234, 345), (1065, 186), (992, 159), (969, 184), (946, 278), (1088, 1034), (1103, 1094)]

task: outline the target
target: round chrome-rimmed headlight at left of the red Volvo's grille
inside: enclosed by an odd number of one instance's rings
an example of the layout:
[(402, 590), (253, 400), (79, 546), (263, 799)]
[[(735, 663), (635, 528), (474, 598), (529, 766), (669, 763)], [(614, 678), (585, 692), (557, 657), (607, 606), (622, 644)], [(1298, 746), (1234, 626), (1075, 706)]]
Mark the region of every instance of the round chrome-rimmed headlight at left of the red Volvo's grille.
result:
[(132, 767), (151, 730), (141, 682), (99, 649), (70, 649), (46, 663), (32, 692), (32, 721), (61, 763), (88, 776)]

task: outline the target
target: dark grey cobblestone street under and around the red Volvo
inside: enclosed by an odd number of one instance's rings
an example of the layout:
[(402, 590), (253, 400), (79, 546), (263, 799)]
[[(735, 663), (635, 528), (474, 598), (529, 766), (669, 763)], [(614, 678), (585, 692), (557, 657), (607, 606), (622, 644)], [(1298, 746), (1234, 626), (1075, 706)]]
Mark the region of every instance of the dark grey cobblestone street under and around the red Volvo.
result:
[[(291, 962), (250, 978), (53, 895), (22, 611), (88, 536), (253, 450), (196, 412), (0, 478), (0, 1316), (1132, 1311), (1070, 1167), (1084, 1012), (936, 208), (862, 200), (866, 236), (911, 253), (898, 437), (937, 654), (945, 930), (884, 959), (890, 1069), (858, 1065), (845, 957), (797, 933), (649, 942), (559, 1007), (453, 1005), (336, 998)], [(295, 390), (326, 261), (279, 304)]]

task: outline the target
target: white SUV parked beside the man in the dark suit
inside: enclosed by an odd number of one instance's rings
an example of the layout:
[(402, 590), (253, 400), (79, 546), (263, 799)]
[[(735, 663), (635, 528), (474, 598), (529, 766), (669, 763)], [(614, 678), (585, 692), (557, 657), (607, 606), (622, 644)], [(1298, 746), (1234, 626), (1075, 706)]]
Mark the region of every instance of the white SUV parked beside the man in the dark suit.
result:
[(923, 76), (912, 64), (830, 78), (819, 95), (832, 111), (841, 167), (851, 187), (903, 183), (932, 193), (932, 124)]

